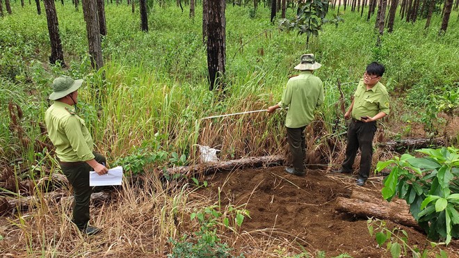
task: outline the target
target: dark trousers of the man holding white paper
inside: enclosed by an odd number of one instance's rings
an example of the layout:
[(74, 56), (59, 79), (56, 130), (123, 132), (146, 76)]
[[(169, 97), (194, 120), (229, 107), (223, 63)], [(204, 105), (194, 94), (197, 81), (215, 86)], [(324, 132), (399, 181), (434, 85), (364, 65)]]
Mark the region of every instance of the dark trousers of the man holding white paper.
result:
[[(95, 153), (95, 160), (99, 163), (105, 163), (105, 157)], [(61, 165), (62, 172), (72, 184), (74, 202), (73, 202), (73, 219), (72, 222), (79, 229), (88, 227), (89, 222), (89, 201), (92, 193), (92, 186), (89, 186), (89, 172), (94, 169), (88, 163), (79, 163), (76, 166)]]

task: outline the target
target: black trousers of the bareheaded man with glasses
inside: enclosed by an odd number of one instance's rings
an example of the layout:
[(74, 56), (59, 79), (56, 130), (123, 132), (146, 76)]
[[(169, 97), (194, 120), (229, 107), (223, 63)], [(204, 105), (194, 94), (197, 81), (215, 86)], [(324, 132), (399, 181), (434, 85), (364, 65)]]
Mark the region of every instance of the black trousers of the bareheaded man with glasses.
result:
[(351, 120), (348, 128), (348, 143), (346, 145), (346, 159), (342, 165), (344, 172), (352, 172), (355, 155), (360, 149), (359, 178), (367, 180), (371, 170), (371, 156), (373, 156), (373, 138), (376, 133), (376, 122), (355, 122)]

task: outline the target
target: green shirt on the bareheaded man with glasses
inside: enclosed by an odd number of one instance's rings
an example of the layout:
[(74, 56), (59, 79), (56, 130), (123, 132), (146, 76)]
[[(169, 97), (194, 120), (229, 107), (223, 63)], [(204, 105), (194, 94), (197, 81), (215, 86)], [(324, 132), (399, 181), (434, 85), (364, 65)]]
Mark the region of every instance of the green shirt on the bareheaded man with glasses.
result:
[(360, 120), (360, 117), (368, 115), (372, 118), (380, 112), (389, 115), (389, 94), (385, 86), (378, 81), (373, 88), (367, 90), (367, 86), (361, 79), (354, 93), (352, 117)]

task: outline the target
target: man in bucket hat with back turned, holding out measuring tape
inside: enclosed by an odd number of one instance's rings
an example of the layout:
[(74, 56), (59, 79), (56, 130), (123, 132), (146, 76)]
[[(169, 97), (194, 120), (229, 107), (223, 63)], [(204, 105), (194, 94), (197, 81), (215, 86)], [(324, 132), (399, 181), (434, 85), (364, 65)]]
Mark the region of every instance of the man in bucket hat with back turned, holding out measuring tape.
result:
[(305, 175), (303, 159), (306, 152), (305, 128), (314, 120), (314, 111), (323, 103), (323, 85), (319, 77), (314, 76), (314, 70), (322, 65), (316, 62), (314, 54), (304, 54), (295, 69), (300, 70), (287, 82), (282, 94), (282, 100), (275, 106), (268, 108), (273, 113), (277, 108), (289, 107), (285, 127), (287, 127), (287, 141), (293, 156), (293, 167), (286, 167), (285, 171), (292, 175)]

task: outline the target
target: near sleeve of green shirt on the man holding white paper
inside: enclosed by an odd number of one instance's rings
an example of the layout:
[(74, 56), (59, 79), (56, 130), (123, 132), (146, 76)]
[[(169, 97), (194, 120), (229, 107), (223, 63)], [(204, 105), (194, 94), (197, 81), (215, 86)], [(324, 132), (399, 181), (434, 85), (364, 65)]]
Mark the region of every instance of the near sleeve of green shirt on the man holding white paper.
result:
[[(86, 128), (85, 128), (86, 129)], [(65, 135), (67, 136), (73, 150), (77, 152), (78, 158), (81, 161), (89, 161), (94, 159), (91, 148), (86, 143), (85, 136), (83, 136), (83, 124), (80, 120), (72, 116), (67, 119), (64, 124)]]

